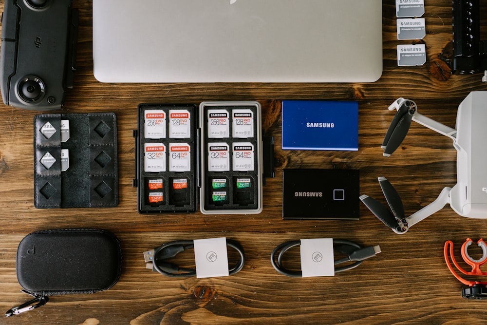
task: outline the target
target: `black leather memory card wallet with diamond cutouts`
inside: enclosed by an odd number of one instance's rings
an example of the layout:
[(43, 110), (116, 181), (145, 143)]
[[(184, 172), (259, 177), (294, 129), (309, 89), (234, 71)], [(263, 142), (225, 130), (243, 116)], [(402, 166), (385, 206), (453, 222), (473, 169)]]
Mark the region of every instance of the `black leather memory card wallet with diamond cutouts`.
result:
[(103, 208), (118, 204), (113, 113), (34, 118), (34, 206)]

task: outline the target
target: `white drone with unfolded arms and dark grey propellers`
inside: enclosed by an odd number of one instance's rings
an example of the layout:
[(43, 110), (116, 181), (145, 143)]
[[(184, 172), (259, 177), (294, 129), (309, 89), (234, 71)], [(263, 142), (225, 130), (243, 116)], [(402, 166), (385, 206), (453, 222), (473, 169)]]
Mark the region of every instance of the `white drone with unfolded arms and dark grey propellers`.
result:
[(471, 92), (460, 103), (456, 129), (417, 113), (416, 103), (409, 99), (398, 98), (389, 106), (390, 111), (393, 109), (397, 113), (382, 143), (384, 156), (390, 156), (399, 147), (411, 121), (416, 121), (453, 140), (457, 151), (457, 184), (452, 188), (445, 187), (436, 200), (409, 217), (404, 215), (401, 198), (385, 177), (378, 180), (392, 213), (368, 195), (360, 196), (360, 200), (396, 233), (405, 233), (447, 203), (463, 217), (487, 218), (487, 139), (484, 139), (487, 134), (487, 91)]

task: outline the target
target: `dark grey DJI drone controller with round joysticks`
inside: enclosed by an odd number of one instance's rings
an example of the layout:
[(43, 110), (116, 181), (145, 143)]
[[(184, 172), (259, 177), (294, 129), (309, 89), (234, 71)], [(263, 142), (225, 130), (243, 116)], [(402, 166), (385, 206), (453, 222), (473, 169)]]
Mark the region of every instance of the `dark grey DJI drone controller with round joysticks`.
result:
[(2, 13), (0, 89), (5, 105), (61, 108), (73, 88), (78, 10), (72, 0), (6, 0)]

